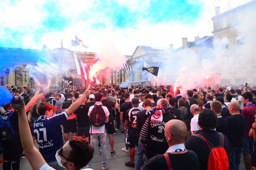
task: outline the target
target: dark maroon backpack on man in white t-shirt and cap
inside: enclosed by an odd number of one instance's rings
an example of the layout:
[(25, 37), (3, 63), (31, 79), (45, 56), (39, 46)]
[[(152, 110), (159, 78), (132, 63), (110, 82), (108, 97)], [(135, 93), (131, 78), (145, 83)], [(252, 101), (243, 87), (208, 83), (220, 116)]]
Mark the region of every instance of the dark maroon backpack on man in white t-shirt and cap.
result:
[(105, 124), (106, 115), (105, 115), (104, 109), (102, 108), (102, 104), (94, 105), (94, 108), (90, 113), (89, 119), (92, 126), (95, 126), (95, 127), (101, 127)]

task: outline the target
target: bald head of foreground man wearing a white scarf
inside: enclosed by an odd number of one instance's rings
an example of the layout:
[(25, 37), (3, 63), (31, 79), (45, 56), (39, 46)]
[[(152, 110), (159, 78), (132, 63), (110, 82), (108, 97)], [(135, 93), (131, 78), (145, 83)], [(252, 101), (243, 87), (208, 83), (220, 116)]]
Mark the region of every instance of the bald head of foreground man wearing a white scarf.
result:
[(184, 143), (187, 136), (187, 126), (184, 122), (172, 119), (169, 120), (164, 128), (165, 134), (173, 134), (171, 137), (172, 145)]

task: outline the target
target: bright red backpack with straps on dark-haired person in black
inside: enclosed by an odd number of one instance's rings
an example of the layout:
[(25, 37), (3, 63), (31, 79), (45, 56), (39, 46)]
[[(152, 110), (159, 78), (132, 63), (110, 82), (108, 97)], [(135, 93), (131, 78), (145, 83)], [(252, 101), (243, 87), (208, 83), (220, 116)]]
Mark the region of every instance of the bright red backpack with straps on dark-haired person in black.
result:
[(207, 146), (210, 149), (207, 170), (228, 170), (228, 155), (224, 149), (224, 136), (222, 133), (218, 133), (220, 136), (220, 143), (218, 146), (214, 147), (208, 140), (206, 140), (200, 134), (192, 134), (192, 136), (198, 137), (201, 140), (205, 141)]

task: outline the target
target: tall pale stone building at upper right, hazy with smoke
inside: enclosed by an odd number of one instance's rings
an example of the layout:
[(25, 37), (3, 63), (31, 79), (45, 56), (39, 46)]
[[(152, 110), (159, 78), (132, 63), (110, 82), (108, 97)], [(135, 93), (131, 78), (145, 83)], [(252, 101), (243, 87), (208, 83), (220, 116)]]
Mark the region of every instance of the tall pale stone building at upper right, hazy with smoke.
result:
[(219, 84), (256, 83), (256, 0), (212, 17)]

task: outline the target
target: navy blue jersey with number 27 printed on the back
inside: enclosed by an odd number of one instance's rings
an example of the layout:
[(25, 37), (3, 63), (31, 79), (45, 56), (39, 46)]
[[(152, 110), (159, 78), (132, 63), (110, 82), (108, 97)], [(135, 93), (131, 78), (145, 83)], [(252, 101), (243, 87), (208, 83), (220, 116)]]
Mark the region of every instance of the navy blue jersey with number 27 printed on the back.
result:
[(61, 124), (67, 118), (67, 113), (62, 112), (54, 117), (40, 116), (32, 124), (33, 134), (36, 137), (39, 151), (46, 162), (56, 161), (56, 151), (63, 146)]

